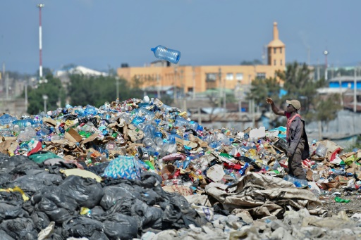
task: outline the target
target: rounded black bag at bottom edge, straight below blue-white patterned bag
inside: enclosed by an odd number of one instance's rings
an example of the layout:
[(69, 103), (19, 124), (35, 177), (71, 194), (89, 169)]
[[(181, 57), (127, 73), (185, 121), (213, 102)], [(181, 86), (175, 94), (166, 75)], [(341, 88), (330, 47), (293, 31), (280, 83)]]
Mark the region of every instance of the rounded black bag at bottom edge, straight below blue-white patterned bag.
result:
[(109, 239), (133, 239), (137, 237), (137, 220), (134, 217), (114, 213), (103, 222), (104, 233)]

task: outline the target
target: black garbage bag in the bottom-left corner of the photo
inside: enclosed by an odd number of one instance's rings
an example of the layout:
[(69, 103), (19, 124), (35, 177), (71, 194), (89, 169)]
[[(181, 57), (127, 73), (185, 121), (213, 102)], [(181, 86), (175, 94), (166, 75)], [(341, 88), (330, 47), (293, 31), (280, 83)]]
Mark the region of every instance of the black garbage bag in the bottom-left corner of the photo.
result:
[(37, 231), (30, 218), (16, 218), (4, 220), (0, 224), (0, 229), (14, 239), (36, 240)]

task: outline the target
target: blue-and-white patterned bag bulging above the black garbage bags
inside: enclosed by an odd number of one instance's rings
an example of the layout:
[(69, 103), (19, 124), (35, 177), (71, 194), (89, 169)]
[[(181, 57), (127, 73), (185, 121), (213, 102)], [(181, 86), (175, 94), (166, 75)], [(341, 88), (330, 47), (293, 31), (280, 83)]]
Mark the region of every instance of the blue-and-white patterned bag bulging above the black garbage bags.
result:
[(118, 156), (104, 170), (103, 177), (140, 180), (142, 167), (134, 157)]

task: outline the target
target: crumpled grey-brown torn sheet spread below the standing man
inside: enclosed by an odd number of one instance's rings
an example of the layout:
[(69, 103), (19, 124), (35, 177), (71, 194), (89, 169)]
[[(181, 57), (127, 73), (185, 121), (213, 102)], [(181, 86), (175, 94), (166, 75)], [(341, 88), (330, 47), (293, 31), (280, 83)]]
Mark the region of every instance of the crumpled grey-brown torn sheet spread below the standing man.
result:
[(283, 179), (255, 172), (249, 172), (231, 186), (222, 185), (207, 185), (207, 194), (222, 203), (224, 209), (254, 208), (252, 212), (258, 217), (277, 215), (286, 206), (295, 209), (307, 207), (310, 210), (322, 206), (311, 191), (297, 189)]

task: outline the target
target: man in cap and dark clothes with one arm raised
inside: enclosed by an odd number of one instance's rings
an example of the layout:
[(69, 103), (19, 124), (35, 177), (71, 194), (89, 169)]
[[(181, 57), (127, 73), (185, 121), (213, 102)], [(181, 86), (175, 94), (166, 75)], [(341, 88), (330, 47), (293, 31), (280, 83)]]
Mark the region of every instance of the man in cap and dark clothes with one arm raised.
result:
[(310, 156), (310, 146), (308, 146), (305, 121), (302, 120), (300, 114), (298, 114), (298, 110), (301, 108), (300, 101), (287, 100), (286, 103), (288, 106), (285, 111), (279, 110), (271, 98), (267, 98), (266, 101), (271, 105), (274, 114), (286, 116), (287, 118), (288, 174), (298, 179), (306, 179), (305, 172), (302, 168), (302, 160)]

